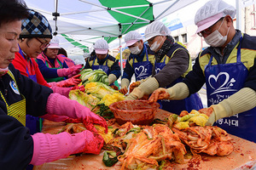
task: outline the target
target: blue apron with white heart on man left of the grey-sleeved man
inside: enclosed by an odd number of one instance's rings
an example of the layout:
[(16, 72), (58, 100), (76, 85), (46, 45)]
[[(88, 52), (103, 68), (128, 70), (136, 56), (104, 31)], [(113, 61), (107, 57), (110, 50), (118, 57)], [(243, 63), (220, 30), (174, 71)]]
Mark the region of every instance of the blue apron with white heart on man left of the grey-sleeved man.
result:
[[(145, 45), (144, 45), (144, 48), (146, 48)], [(147, 56), (147, 61), (142, 61), (142, 62), (137, 62), (137, 63), (134, 62), (135, 57), (133, 57), (132, 67), (133, 67), (133, 70), (134, 70), (134, 73), (135, 73), (136, 81), (148, 78), (152, 74), (153, 65), (148, 60), (148, 50), (147, 50), (147, 48), (146, 48), (146, 56)]]

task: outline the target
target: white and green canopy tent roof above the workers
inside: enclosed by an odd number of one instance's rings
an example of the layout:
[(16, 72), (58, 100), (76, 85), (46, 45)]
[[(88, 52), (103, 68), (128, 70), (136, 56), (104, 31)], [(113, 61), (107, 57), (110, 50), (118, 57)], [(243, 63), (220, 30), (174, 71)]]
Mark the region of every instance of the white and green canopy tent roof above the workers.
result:
[[(44, 14), (64, 44), (88, 50), (98, 38), (112, 42), (196, 0), (25, 0)], [(72, 42), (72, 43), (67, 43)], [(85, 46), (85, 47), (84, 47)], [(67, 45), (65, 46), (67, 47)], [(110, 46), (111, 47), (111, 46)], [(69, 48), (66, 48), (67, 51)], [(83, 50), (79, 49), (79, 53)]]

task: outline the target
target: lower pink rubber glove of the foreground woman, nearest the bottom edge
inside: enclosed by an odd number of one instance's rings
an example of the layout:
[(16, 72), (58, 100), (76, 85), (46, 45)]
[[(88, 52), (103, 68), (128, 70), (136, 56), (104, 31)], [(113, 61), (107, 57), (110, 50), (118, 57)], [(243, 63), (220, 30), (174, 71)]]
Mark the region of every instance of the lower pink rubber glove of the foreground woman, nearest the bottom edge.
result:
[(104, 140), (97, 133), (85, 130), (82, 133), (35, 133), (32, 135), (34, 150), (32, 165), (56, 161), (80, 152), (99, 154)]

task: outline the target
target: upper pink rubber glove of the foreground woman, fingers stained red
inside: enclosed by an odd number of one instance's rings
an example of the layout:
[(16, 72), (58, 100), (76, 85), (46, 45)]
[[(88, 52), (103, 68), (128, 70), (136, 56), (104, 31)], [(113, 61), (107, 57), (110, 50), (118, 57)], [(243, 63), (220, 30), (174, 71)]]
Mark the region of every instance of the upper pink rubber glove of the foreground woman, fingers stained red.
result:
[(102, 116), (96, 115), (88, 107), (80, 105), (78, 101), (67, 99), (61, 94), (50, 94), (47, 100), (46, 111), (49, 114), (69, 116), (73, 119), (81, 119), (85, 127), (90, 131), (96, 131), (93, 124), (99, 124), (105, 127), (105, 133), (108, 133), (108, 125)]

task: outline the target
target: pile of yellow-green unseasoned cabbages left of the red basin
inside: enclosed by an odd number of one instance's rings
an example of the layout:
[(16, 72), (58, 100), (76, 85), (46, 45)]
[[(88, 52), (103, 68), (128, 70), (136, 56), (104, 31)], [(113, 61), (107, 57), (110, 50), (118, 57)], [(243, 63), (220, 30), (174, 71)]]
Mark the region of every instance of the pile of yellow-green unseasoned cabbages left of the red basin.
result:
[(124, 94), (108, 86), (108, 76), (104, 71), (85, 69), (80, 74), (85, 91), (72, 90), (69, 99), (77, 100), (79, 104), (90, 108), (90, 111), (107, 120), (113, 118), (113, 112), (108, 106), (124, 100)]

